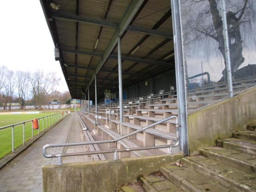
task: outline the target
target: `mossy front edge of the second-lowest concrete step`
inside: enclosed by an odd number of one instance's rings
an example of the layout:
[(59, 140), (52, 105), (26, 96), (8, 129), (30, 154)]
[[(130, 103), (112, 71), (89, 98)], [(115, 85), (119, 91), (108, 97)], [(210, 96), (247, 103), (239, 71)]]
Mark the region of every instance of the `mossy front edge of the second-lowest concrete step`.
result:
[(169, 181), (174, 183), (177, 187), (181, 188), (183, 191), (189, 192), (202, 192), (201, 189), (190, 183), (189, 181), (183, 179), (182, 177), (176, 175), (174, 172), (166, 169), (165, 167), (160, 167), (161, 174)]

